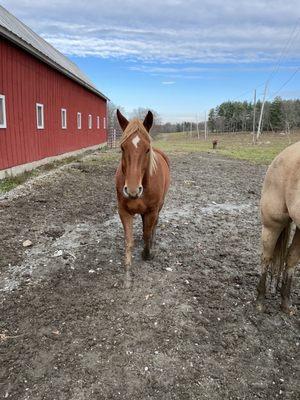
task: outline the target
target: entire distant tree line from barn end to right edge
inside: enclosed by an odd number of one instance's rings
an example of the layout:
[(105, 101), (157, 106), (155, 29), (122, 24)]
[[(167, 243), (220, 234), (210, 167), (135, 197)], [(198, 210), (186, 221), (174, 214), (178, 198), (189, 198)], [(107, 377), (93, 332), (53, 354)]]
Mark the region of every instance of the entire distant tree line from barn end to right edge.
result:
[[(122, 132), (119, 127), (116, 109), (119, 108), (124, 113), (122, 107), (117, 107), (110, 103), (108, 108), (108, 122), (110, 129), (115, 129), (117, 137)], [(208, 130), (212, 133), (218, 132), (252, 132), (253, 116), (255, 112), (255, 131), (257, 131), (259, 116), (262, 108), (262, 102), (257, 101), (255, 107), (248, 101), (225, 101), (209, 111)], [(155, 137), (159, 133), (171, 132), (196, 132), (204, 130), (204, 121), (198, 123), (192, 121), (162, 123), (159, 114), (151, 110), (154, 115), (154, 124), (151, 135)], [(144, 119), (148, 108), (137, 108), (131, 112), (129, 118)], [(262, 131), (287, 133), (292, 129), (300, 128), (300, 99), (283, 100), (281, 97), (275, 97), (273, 101), (266, 101), (262, 118)]]

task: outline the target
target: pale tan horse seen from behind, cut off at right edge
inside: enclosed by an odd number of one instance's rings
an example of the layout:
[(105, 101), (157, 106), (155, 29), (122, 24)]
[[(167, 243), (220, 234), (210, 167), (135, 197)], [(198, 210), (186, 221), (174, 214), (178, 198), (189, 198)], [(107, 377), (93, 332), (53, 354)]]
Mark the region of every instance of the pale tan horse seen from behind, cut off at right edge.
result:
[[(283, 150), (270, 165), (260, 203), (262, 219), (262, 273), (257, 308), (264, 309), (268, 270), (281, 283), (281, 309), (291, 314), (290, 291), (300, 259), (300, 142)], [(291, 223), (296, 231), (288, 248)]]

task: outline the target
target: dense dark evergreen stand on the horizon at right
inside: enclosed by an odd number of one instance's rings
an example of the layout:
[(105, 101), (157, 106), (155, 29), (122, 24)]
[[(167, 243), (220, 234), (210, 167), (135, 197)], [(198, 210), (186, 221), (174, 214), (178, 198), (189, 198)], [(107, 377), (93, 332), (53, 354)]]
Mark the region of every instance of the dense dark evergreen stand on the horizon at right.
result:
[[(243, 132), (253, 130), (255, 112), (255, 130), (257, 130), (262, 102), (254, 104), (247, 101), (226, 101), (212, 108), (208, 115), (210, 132)], [(264, 131), (290, 131), (300, 128), (300, 100), (283, 100), (275, 97), (266, 101), (262, 119)]]

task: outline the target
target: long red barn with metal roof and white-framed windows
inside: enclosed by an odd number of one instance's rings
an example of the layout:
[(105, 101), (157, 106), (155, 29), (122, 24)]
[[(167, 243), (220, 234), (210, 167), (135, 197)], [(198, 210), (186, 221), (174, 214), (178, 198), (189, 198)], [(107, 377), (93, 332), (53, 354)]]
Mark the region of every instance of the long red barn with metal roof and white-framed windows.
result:
[(0, 6), (0, 178), (104, 144), (107, 100)]

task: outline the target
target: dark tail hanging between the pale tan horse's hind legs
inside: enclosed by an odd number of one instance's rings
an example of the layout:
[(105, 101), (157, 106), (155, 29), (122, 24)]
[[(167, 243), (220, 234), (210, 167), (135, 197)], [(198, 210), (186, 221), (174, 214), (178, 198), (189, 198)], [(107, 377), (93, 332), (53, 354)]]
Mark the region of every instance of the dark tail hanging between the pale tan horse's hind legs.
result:
[(270, 265), (271, 282), (273, 282), (275, 279), (274, 283), (277, 288), (279, 287), (282, 273), (285, 268), (290, 232), (291, 222), (286, 225), (277, 240), (273, 253), (272, 263)]

